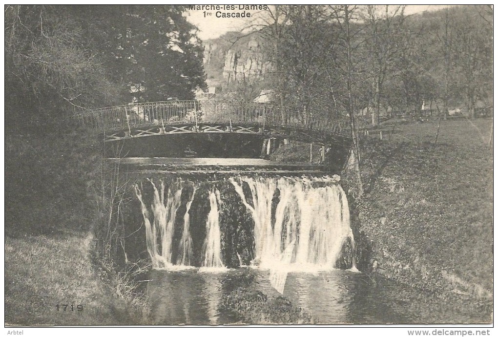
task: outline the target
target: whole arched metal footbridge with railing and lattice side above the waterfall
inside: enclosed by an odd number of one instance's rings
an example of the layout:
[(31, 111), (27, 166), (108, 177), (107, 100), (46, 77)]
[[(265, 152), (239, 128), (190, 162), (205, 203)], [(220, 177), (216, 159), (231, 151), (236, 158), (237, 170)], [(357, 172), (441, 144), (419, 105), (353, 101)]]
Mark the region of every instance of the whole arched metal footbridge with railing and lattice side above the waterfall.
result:
[(176, 134), (231, 133), (317, 145), (349, 144), (346, 117), (240, 101), (164, 101), (127, 104), (77, 115), (105, 142)]

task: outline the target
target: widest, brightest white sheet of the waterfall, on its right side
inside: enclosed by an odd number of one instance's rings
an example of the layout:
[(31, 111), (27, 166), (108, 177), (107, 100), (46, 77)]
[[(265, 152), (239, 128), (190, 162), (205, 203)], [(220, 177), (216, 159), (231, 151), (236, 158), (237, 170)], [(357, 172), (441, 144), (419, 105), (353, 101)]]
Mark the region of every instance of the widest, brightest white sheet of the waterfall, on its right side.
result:
[[(241, 176), (230, 181), (252, 214), (254, 264), (261, 268), (333, 269), (346, 239), (351, 238), (354, 245), (346, 194), (337, 183), (339, 176)], [(249, 187), (251, 203), (244, 183)]]

